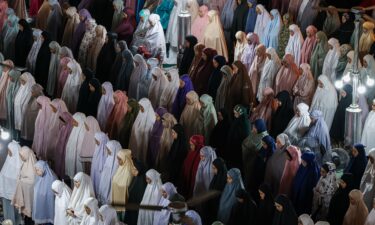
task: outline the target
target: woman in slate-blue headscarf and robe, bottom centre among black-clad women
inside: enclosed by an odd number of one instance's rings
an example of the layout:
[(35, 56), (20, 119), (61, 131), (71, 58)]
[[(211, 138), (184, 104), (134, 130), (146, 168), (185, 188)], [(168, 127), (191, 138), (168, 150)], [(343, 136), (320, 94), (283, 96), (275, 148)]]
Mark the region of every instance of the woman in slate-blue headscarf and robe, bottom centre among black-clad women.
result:
[(232, 168), (228, 171), (228, 176), (232, 178), (232, 183), (225, 185), (224, 191), (221, 194), (220, 205), (218, 211), (218, 220), (226, 224), (229, 220), (232, 208), (236, 203), (237, 190), (244, 189), (242, 182), (241, 171), (237, 168)]

